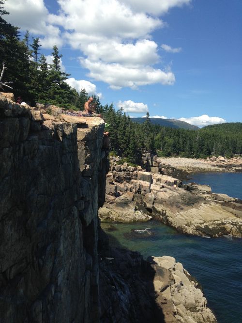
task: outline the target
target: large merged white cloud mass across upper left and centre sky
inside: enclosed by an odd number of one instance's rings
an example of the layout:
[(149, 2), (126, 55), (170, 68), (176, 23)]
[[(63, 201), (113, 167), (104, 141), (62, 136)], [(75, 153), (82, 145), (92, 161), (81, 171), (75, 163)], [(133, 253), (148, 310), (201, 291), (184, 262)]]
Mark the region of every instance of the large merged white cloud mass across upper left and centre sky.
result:
[[(160, 63), (160, 57), (151, 34), (166, 26), (162, 14), (191, 0), (57, 2), (57, 14), (50, 14), (44, 0), (6, 1), (10, 12), (7, 19), (41, 35), (42, 48), (52, 48), (54, 44), (60, 48), (65, 44), (80, 50), (80, 64), (89, 70), (89, 77), (106, 82), (112, 89), (175, 82), (171, 71), (154, 67)], [(171, 49), (174, 52), (179, 48)]]

